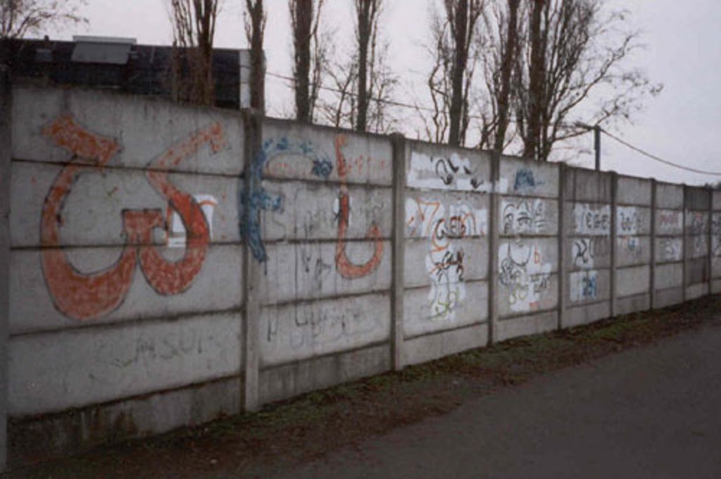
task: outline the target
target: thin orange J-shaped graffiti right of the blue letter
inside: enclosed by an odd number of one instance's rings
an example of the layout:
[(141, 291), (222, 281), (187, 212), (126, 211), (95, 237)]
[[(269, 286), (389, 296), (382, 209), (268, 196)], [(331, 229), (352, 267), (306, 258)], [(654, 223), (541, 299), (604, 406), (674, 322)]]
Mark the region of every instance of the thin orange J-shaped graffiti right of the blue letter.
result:
[(368, 228), (366, 239), (375, 240), (375, 251), (373, 257), (366, 263), (356, 265), (350, 262), (348, 255), (345, 253), (345, 232), (348, 229), (348, 216), (350, 214), (350, 197), (348, 195), (348, 183), (346, 177), (348, 170), (343, 156), (342, 148), (345, 145), (345, 136), (339, 135), (335, 139), (335, 157), (338, 168), (338, 177), (340, 178), (340, 218), (338, 220), (338, 241), (335, 245), (335, 265), (344, 278), (361, 278), (378, 268), (383, 258), (383, 241), (381, 240), (381, 230), (376, 224), (372, 224)]

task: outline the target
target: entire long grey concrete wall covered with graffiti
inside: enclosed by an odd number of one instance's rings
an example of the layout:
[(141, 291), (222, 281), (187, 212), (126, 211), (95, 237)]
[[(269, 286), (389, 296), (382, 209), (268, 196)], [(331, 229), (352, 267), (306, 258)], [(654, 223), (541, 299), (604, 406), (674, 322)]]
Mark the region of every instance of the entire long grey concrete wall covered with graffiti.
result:
[(11, 103), (12, 462), (721, 291), (702, 188), (107, 92)]

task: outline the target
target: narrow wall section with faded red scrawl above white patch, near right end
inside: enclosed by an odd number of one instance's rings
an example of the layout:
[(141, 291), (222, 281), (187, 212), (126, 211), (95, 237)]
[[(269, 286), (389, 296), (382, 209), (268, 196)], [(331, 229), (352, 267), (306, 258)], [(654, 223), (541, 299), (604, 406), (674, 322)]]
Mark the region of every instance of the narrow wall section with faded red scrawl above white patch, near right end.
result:
[(684, 187), (656, 183), (655, 303), (684, 302)]

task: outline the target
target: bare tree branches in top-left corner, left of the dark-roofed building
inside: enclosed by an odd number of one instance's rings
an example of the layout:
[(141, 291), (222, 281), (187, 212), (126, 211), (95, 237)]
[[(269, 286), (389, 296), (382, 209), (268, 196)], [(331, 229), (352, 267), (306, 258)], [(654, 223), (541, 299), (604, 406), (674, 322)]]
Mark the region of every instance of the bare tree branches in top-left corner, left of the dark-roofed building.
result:
[(9, 60), (13, 40), (39, 35), (48, 27), (87, 24), (86, 0), (0, 0), (0, 63)]

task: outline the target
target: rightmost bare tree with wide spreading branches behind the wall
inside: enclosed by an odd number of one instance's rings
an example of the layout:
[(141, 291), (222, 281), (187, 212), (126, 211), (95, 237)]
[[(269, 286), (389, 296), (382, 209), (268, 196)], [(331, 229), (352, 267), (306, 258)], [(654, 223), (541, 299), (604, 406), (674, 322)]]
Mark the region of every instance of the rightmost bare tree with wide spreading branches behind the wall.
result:
[(519, 44), (516, 120), (523, 154), (546, 161), (558, 141), (585, 133), (569, 123), (592, 92), (601, 101), (585, 121), (598, 125), (630, 118), (662, 87), (624, 69), (640, 48), (639, 33), (625, 28), (626, 12), (606, 14), (601, 0), (531, 1), (528, 38)]

